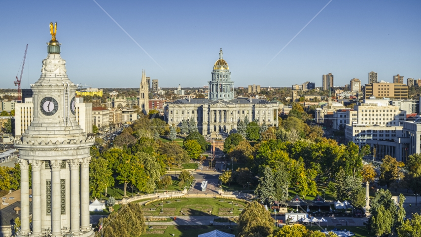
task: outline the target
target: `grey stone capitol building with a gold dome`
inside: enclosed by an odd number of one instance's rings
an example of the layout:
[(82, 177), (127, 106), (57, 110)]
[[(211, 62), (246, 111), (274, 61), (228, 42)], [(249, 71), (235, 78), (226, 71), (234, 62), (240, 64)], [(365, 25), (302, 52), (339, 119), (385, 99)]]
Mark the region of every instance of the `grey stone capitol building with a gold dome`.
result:
[(179, 125), (184, 119), (194, 118), (199, 132), (210, 137), (226, 136), (231, 130), (237, 130), (237, 122), (246, 117), (259, 124), (278, 126), (278, 102), (234, 96), (234, 81), (222, 55), (221, 48), (208, 81), (208, 98), (168, 102), (164, 108), (165, 121)]

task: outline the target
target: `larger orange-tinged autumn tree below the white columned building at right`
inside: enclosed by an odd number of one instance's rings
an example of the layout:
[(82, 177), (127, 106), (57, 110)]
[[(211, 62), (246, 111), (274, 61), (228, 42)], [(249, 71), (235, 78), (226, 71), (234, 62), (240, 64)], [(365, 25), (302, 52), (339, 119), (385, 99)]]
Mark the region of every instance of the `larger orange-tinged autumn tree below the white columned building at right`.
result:
[(383, 163), (380, 165), (380, 177), (378, 184), (381, 186), (386, 185), (387, 188), (389, 188), (390, 184), (396, 181), (399, 176), (402, 176), (402, 174), (396, 158), (386, 155), (382, 161)]

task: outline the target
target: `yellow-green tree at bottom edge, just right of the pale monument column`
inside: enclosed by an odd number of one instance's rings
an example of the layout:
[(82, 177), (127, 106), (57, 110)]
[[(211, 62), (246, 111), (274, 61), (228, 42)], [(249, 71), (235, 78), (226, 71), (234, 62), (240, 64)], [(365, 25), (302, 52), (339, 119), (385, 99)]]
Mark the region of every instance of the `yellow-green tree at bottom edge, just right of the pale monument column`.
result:
[(376, 215), (371, 218), (371, 232), (377, 237), (391, 233), (393, 224), (392, 214), (383, 206), (379, 206)]

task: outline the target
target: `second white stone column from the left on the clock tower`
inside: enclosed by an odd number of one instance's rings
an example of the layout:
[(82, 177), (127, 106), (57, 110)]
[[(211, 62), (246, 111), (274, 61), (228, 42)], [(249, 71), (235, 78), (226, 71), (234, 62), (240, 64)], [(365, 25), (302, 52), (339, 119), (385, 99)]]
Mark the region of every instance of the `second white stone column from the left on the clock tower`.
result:
[(42, 160), (31, 160), (32, 165), (32, 235), (41, 234), (41, 165)]

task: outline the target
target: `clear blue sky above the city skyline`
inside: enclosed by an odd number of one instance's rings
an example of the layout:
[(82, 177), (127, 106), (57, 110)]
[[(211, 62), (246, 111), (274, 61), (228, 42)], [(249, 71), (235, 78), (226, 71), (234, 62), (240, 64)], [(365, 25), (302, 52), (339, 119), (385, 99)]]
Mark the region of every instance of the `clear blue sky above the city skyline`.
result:
[(22, 88), (39, 78), (51, 21), (70, 80), (92, 87), (138, 87), (142, 69), (161, 87), (203, 86), (221, 47), (235, 86), (421, 78), (419, 0), (333, 0), (267, 67), (328, 0), (97, 2), (165, 71), (93, 0), (3, 0), (0, 88), (14, 87), (27, 43)]

